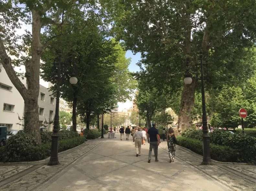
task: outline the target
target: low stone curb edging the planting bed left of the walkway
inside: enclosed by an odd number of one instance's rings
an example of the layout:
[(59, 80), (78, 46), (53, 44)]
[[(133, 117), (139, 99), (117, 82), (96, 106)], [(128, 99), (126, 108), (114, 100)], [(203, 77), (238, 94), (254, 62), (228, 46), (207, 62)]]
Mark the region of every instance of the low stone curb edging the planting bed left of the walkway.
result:
[[(101, 138), (101, 137), (98, 137), (98, 138)], [(74, 147), (74, 148), (70, 148), (70, 149), (68, 149), (68, 150), (64, 150), (64, 151), (62, 151), (62, 152), (59, 152), (59, 153), (58, 153), (58, 156), (61, 155), (61, 154), (63, 154), (63, 153), (66, 153), (66, 152), (68, 152), (68, 151), (75, 150), (76, 148), (81, 147), (81, 146), (83, 146), (83, 145), (85, 145), (85, 144), (88, 144), (88, 143), (90, 143), (90, 142), (93, 142), (93, 141), (95, 141), (95, 140), (96, 140), (96, 138), (95, 138), (95, 139), (90, 139), (90, 140), (88, 140), (89, 142), (86, 141), (86, 142), (82, 143), (81, 145), (78, 145), (78, 146), (76, 146), (76, 147)], [(29, 161), (29, 162), (0, 162), (0, 166), (4, 166), (4, 165), (22, 165), (22, 164), (26, 164), (26, 165), (29, 165), (29, 164), (31, 164), (31, 165), (39, 165), (39, 164), (42, 164), (42, 163), (44, 163), (44, 162), (46, 162), (46, 161), (48, 161), (48, 160), (50, 160), (50, 157), (47, 157), (47, 158), (45, 158), (45, 159), (43, 159), (43, 160)]]

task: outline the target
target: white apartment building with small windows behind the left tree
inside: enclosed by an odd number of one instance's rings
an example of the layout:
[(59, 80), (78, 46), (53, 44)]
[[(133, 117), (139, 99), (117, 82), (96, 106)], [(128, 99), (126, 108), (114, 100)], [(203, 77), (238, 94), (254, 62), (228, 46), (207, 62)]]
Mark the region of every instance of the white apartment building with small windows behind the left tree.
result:
[[(0, 109), (0, 126), (6, 126), (8, 129), (23, 129), (24, 121), (19, 120), (18, 116), (21, 119), (24, 117), (24, 100), (4, 68), (0, 66), (0, 70), (0, 106), (3, 108)], [(20, 81), (26, 84), (26, 79), (20, 78)], [(43, 126), (44, 121), (49, 122), (54, 119), (56, 99), (51, 94), (46, 87), (40, 85), (38, 97), (40, 126)], [(52, 124), (44, 124), (44, 126), (47, 126), (48, 130), (53, 128)]]

